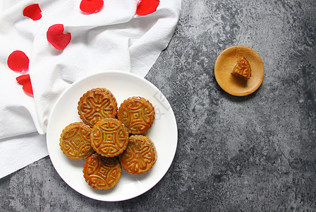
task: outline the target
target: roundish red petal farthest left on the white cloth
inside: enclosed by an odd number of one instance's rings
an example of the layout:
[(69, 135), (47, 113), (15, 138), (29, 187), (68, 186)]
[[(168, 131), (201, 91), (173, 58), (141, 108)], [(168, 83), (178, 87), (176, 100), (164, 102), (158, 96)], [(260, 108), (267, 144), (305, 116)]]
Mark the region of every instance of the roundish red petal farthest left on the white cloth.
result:
[(24, 52), (16, 50), (8, 56), (7, 64), (13, 71), (23, 72), (28, 70), (29, 62), (30, 59)]

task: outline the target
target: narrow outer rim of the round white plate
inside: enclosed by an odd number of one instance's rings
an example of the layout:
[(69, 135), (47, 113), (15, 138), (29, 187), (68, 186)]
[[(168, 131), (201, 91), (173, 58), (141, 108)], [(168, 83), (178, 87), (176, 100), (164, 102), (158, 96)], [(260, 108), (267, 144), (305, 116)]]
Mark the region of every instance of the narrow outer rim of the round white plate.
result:
[[(147, 85), (151, 86), (154, 90), (159, 90), (156, 86), (154, 86), (153, 83), (151, 83), (150, 81), (148, 81), (147, 79), (145, 78), (142, 78), (138, 75), (136, 75), (135, 73), (130, 73), (128, 71), (118, 71), (118, 70), (109, 70), (109, 71), (101, 71), (101, 72), (98, 72), (98, 73), (92, 73), (90, 75), (86, 75), (86, 76), (83, 76), (82, 78), (78, 79), (77, 81), (71, 83), (70, 86), (68, 86), (68, 88), (66, 88), (65, 90), (63, 90), (63, 92), (61, 93), (61, 95), (59, 95), (59, 98), (57, 98), (56, 102), (54, 103), (53, 107), (51, 107), (51, 112), (49, 114), (49, 119), (48, 119), (48, 122), (47, 122), (47, 134), (46, 134), (46, 144), (47, 144), (47, 151), (49, 153), (49, 158), (51, 160), (51, 163), (54, 167), (54, 169), (56, 170), (57, 174), (59, 175), (59, 177), (61, 177), (61, 179), (63, 180), (63, 182), (65, 182), (66, 184), (68, 184), (68, 182), (66, 182), (65, 179), (63, 179), (63, 177), (61, 176), (61, 174), (59, 173), (59, 169), (56, 168), (56, 161), (54, 159), (51, 158), (51, 150), (49, 148), (49, 134), (50, 134), (50, 131), (49, 131), (49, 126), (50, 126), (50, 123), (51, 123), (51, 117), (54, 115), (53, 112), (54, 110), (56, 109), (57, 105), (59, 105), (59, 102), (61, 101), (61, 99), (63, 98), (63, 95), (65, 95), (66, 93), (68, 93), (69, 90), (71, 90), (73, 88), (73, 86), (76, 86), (78, 83), (82, 83), (83, 81), (86, 81), (88, 78), (94, 78), (94, 77), (97, 77), (97, 76), (103, 76), (103, 75), (107, 75), (107, 74), (119, 74), (119, 75), (127, 75), (129, 77), (132, 77), (132, 78), (137, 78), (138, 80), (140, 81), (143, 81), (144, 83), (146, 83)], [(160, 93), (162, 93), (160, 90), (159, 90)], [(164, 95), (162, 93), (162, 95)], [(164, 98), (166, 98), (164, 96)], [(86, 194), (83, 194), (83, 192), (80, 192), (78, 191), (77, 189), (74, 189), (70, 184), (68, 184), (69, 187), (71, 187), (71, 189), (75, 190), (75, 192), (78, 192), (79, 194), (82, 194), (83, 196), (86, 196), (87, 198), (90, 198), (90, 199), (95, 199), (97, 201), (109, 201), (109, 202), (113, 202), (113, 201), (126, 201), (128, 199), (133, 199), (137, 196), (140, 196), (142, 194), (145, 194), (145, 192), (148, 192), (150, 189), (152, 189), (158, 182), (160, 182), (162, 180), (162, 178), (166, 175), (166, 172), (168, 172), (168, 170), (170, 169), (173, 161), (174, 161), (174, 158), (175, 158), (175, 155), (176, 155), (176, 149), (177, 149), (177, 146), (178, 146), (178, 126), (177, 126), (177, 122), (176, 122), (176, 116), (174, 114), (174, 110), (172, 109), (169, 101), (166, 99), (166, 102), (169, 104), (169, 110), (171, 110), (171, 114), (172, 114), (172, 120), (174, 121), (174, 124), (175, 124), (175, 127), (176, 127), (176, 131), (175, 131), (175, 146), (174, 146), (174, 151), (173, 151), (173, 154), (171, 155), (171, 158), (172, 160), (170, 160), (170, 164), (168, 165), (168, 168), (166, 168), (166, 171), (164, 173), (162, 173), (161, 177), (159, 177), (159, 179), (157, 180), (157, 182), (154, 182), (153, 184), (150, 185), (150, 187), (148, 187), (147, 189), (145, 189), (144, 192), (140, 192), (139, 194), (136, 194), (134, 196), (130, 196), (128, 198), (123, 198), (123, 199), (98, 199), (98, 198), (94, 198), (92, 196), (87, 196)], [(123, 169), (122, 169), (123, 171)]]

